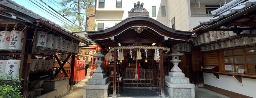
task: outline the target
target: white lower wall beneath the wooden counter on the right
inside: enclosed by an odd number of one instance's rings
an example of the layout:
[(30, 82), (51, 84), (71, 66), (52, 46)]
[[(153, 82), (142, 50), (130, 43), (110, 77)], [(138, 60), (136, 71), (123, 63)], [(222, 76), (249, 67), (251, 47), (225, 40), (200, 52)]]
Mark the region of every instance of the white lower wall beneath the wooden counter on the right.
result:
[(204, 72), (204, 84), (256, 98), (256, 79), (242, 78), (243, 85), (241, 86), (241, 83), (233, 76), (219, 75), (218, 81), (212, 73)]

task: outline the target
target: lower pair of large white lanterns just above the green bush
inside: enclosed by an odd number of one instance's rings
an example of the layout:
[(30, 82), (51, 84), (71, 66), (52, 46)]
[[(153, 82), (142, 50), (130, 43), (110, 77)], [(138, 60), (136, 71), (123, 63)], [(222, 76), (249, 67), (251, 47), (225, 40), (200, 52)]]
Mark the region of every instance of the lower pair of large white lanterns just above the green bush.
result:
[(0, 60), (0, 77), (5, 76), (5, 73), (15, 77), (19, 75), (19, 67), (21, 60)]

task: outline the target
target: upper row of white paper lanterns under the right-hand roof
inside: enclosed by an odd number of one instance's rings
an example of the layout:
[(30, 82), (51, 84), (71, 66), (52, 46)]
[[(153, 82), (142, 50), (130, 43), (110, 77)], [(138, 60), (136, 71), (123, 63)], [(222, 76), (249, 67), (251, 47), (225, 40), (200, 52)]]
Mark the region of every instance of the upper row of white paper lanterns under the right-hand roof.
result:
[(194, 46), (208, 44), (210, 42), (215, 42), (222, 39), (228, 39), (236, 37), (237, 34), (233, 31), (209, 31), (205, 32), (197, 37), (193, 38)]

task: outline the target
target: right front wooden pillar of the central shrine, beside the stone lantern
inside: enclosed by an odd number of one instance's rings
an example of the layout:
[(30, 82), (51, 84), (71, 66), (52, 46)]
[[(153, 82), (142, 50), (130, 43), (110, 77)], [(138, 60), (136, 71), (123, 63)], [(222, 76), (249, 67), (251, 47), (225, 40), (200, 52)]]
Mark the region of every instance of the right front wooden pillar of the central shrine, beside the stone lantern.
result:
[(164, 98), (164, 65), (163, 65), (163, 50), (159, 50), (159, 55), (160, 55), (160, 61), (159, 61), (159, 66), (160, 66), (160, 90), (161, 90), (161, 97)]

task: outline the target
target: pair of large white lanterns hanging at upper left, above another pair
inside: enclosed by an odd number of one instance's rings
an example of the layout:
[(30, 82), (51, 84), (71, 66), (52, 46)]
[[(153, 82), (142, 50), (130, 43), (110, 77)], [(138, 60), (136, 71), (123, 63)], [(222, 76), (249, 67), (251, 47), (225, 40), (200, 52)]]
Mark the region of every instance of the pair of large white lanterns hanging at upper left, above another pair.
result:
[(0, 31), (0, 50), (19, 52), (23, 45), (23, 31)]

